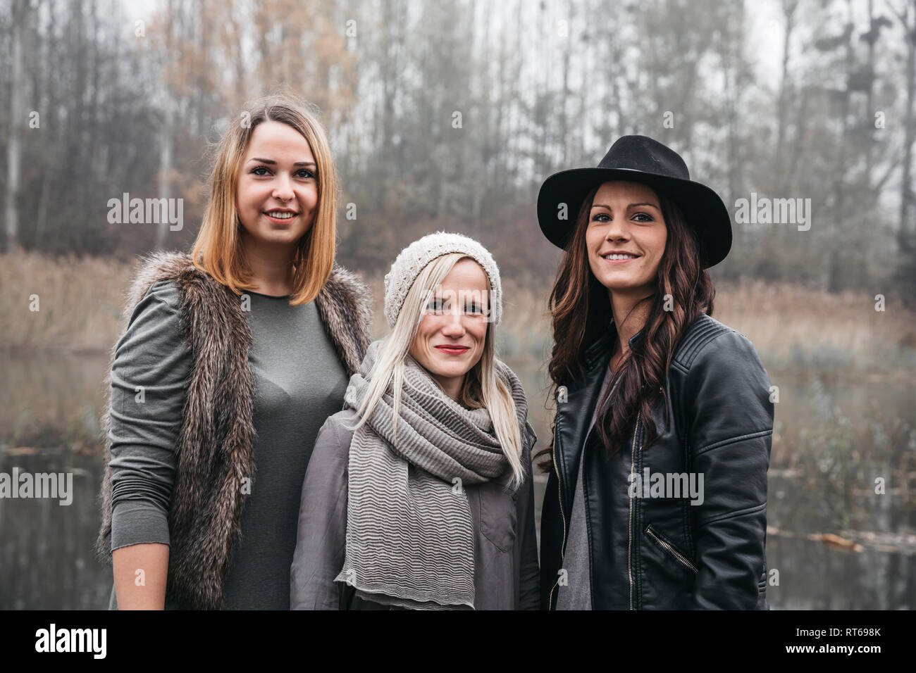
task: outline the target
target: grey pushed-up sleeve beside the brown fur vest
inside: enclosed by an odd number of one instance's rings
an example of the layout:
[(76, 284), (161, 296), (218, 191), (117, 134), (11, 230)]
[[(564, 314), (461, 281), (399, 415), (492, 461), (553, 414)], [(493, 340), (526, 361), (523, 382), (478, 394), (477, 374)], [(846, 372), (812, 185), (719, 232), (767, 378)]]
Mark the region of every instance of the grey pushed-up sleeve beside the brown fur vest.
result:
[(154, 284), (115, 346), (111, 385), (112, 550), (169, 544), (175, 442), (191, 373), (180, 297)]

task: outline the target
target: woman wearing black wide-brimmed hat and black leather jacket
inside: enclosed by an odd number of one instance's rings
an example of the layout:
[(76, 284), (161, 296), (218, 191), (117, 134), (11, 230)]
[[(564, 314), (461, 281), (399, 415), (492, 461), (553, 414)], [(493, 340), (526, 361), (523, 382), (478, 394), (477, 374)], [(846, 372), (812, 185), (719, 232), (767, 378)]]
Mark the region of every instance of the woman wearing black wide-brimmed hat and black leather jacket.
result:
[(731, 247), (725, 204), (669, 147), (624, 136), (545, 180), (538, 218), (565, 250), (542, 607), (769, 609), (769, 377), (711, 317), (704, 270)]

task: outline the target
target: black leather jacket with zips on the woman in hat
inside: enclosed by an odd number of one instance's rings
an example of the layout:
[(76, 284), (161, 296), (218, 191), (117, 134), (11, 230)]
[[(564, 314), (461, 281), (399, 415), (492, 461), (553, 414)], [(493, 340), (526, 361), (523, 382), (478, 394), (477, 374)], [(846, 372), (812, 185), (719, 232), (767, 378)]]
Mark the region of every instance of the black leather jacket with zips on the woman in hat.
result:
[[(632, 446), (607, 459), (590, 428), (613, 339), (611, 331), (594, 342), (585, 353), (585, 374), (557, 392), (553, 470), (540, 524), (541, 607), (554, 609), (563, 590), (563, 554), (584, 453), (594, 609), (769, 609), (773, 404), (753, 344), (701, 315), (678, 344), (665, 396), (652, 410), (658, 439), (642, 450), (645, 434), (637, 418)], [(702, 474), (702, 504), (692, 505), (687, 494), (630, 497), (630, 484), (645, 481), (646, 468), (650, 474)]]

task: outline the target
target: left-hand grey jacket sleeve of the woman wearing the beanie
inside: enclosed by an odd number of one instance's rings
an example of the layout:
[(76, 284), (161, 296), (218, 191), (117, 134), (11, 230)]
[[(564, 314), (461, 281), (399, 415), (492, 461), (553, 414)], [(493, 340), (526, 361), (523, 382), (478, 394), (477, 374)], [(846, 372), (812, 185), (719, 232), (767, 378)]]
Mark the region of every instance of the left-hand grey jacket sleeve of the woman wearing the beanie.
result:
[(296, 551), (289, 569), (290, 610), (346, 609), (345, 587), (334, 579), (346, 554), (347, 472), (352, 410), (329, 417), (318, 432), (300, 498)]

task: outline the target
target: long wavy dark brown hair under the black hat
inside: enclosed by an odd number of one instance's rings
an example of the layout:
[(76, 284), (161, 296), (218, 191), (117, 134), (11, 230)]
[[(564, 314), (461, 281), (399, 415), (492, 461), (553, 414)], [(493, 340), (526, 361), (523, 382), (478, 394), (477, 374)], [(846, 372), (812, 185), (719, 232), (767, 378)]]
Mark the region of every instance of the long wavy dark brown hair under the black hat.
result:
[[(584, 353), (592, 343), (607, 331), (612, 344), (617, 338), (607, 288), (594, 277), (585, 248), (585, 230), (599, 187), (591, 190), (583, 201), (572, 240), (566, 246), (551, 289), (553, 351), (548, 371), (554, 399), (560, 385), (569, 385), (585, 373)], [(715, 288), (703, 268), (696, 235), (685, 222), (681, 209), (664, 194), (657, 192), (657, 195), (668, 238), (659, 262), (655, 292), (642, 299), (650, 304), (649, 315), (608, 387), (613, 392), (610, 404), (604, 400), (597, 403), (597, 408), (604, 405), (605, 411), (596, 419), (595, 430), (608, 456), (627, 445), (630, 427), (638, 413), (646, 430), (643, 446), (648, 447), (658, 437), (651, 411), (664, 391), (674, 349), (694, 320), (703, 313), (713, 315)], [(670, 299), (666, 301), (667, 298)], [(546, 461), (539, 463), (545, 471), (551, 469), (552, 450), (551, 445), (538, 453), (549, 454)]]

